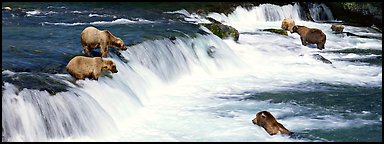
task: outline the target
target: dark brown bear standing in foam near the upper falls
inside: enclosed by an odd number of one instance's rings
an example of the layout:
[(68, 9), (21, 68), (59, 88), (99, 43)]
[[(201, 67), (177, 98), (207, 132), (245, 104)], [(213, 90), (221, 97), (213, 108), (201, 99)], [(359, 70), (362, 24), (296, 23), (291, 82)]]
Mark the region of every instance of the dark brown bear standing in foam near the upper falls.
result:
[(324, 49), (324, 44), (327, 37), (321, 30), (295, 25), (293, 26), (292, 31), (293, 33), (300, 35), (301, 44), (304, 46), (307, 44), (316, 44), (318, 49)]

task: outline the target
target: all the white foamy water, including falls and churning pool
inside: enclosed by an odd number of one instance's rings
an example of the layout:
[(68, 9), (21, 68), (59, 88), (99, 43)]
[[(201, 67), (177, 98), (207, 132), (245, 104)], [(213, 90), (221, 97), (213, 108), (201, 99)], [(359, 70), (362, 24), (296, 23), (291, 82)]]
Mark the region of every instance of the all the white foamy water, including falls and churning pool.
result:
[[(269, 17), (272, 21), (265, 17), (251, 21), (256, 15), (262, 17), (260, 9), (274, 9), (276, 15)], [(336, 60), (369, 55), (321, 53), (315, 47), (302, 46), (297, 34), (283, 36), (260, 31), (280, 28), (280, 19), (296, 17), (296, 9), (296, 5), (266, 4), (251, 11), (237, 7), (228, 17), (210, 14), (215, 19), (220, 16), (217, 20), (243, 32), (238, 42), (221, 40), (212, 34), (177, 37), (173, 42), (144, 41), (121, 52), (128, 63), (110, 55), (119, 71), (112, 78), (72, 84), (66, 80), (69, 75), (58, 75), (71, 88), (55, 96), (29, 89), (18, 92), (6, 83), (2, 117), (7, 121), (3, 120), (2, 125), (11, 129), (10, 141), (297, 142), (310, 140), (270, 136), (251, 120), (258, 111), (267, 110), (286, 128), (298, 133), (380, 123), (381, 118), (345, 119), (338, 113), (327, 113), (320, 106), (242, 99), (247, 91), (295, 89), (297, 84), (305, 82), (381, 86), (381, 66)], [(99, 24), (119, 22), (129, 23), (129, 20)], [(378, 39), (335, 35), (330, 24), (299, 19), (296, 23), (324, 31), (327, 43), (322, 51), (381, 50), (382, 47)], [(346, 26), (345, 30), (363, 29)], [(216, 48), (213, 57), (207, 53), (211, 46)], [(314, 59), (312, 54), (324, 56), (332, 65)], [(3, 71), (3, 74), (14, 72)], [(46, 125), (52, 132), (46, 131)]]

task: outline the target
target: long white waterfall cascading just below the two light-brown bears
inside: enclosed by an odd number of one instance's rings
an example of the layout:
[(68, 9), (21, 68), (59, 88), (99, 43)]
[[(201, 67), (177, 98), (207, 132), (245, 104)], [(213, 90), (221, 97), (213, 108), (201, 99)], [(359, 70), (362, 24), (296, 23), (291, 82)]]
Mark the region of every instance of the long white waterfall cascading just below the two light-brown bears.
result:
[[(210, 56), (207, 51), (215, 47)], [(176, 40), (144, 41), (121, 55), (114, 53), (118, 73), (98, 81), (68, 81), (70, 88), (50, 96), (46, 91), (18, 90), (5, 82), (2, 93), (3, 141), (50, 141), (68, 138), (99, 138), (118, 133), (126, 120), (156, 97), (151, 90), (183, 75), (210, 77), (221, 70), (235, 71), (241, 62), (213, 34), (177, 37)], [(3, 71), (3, 76), (9, 72)], [(56, 74), (55, 76), (57, 76)]]

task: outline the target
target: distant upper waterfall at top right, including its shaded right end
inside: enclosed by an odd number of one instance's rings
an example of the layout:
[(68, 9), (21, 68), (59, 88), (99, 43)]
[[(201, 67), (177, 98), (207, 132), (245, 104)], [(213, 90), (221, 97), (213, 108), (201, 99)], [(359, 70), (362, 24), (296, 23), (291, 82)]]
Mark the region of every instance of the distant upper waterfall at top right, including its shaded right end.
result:
[(316, 21), (334, 20), (332, 12), (323, 3), (309, 3), (308, 9), (300, 6), (299, 3), (278, 6), (274, 4), (261, 4), (251, 9), (242, 6), (225, 15), (223, 13), (209, 13), (211, 17), (223, 24), (230, 25), (240, 32), (257, 31), (259, 29), (276, 28), (280, 29), (281, 21), (285, 18), (292, 18), (295, 21), (308, 21), (307, 14)]

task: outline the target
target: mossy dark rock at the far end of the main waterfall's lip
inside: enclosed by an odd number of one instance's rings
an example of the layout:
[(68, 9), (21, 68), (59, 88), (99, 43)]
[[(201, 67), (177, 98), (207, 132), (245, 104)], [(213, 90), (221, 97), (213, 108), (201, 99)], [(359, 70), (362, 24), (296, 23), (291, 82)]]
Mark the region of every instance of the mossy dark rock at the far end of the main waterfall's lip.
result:
[(212, 18), (210, 20), (212, 20), (212, 23), (200, 25), (208, 28), (213, 34), (217, 35), (222, 39), (232, 37), (234, 41), (239, 40), (239, 31), (237, 31), (235, 28), (228, 25), (224, 25)]

